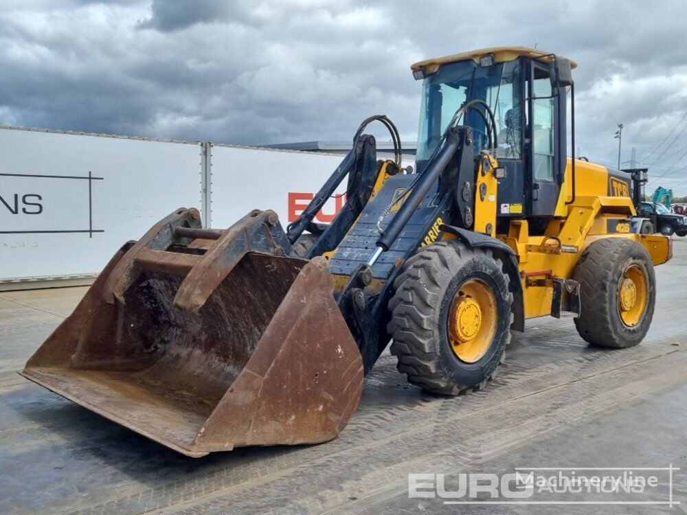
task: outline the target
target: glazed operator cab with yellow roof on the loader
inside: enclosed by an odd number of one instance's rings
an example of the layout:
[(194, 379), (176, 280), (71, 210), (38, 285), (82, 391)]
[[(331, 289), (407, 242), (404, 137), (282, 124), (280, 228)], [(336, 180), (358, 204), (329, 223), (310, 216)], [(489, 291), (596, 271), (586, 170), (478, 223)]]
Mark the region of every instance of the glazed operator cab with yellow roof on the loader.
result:
[[(559, 73), (559, 62), (570, 63), (565, 80), (552, 76)], [(455, 111), (482, 100), (496, 123), (495, 148), (488, 149), (488, 113), (483, 109), (469, 109), (459, 123), (473, 128), (475, 152), (491, 150), (506, 169), (499, 181), (499, 218), (554, 216), (565, 181), (566, 86), (572, 85), (574, 66), (526, 47), (477, 50), (413, 65), (414, 77), (423, 79), (418, 171), (424, 170)], [(561, 77), (565, 75), (563, 70)]]

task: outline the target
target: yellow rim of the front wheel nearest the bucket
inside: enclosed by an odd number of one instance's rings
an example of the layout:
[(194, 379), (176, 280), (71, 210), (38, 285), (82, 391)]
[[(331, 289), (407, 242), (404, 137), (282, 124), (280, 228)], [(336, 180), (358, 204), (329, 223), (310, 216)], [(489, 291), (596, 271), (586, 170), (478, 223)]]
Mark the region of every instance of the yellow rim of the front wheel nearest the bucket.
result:
[(455, 294), (449, 311), (449, 339), (460, 361), (475, 363), (496, 334), (496, 297), (486, 283), (470, 279)]

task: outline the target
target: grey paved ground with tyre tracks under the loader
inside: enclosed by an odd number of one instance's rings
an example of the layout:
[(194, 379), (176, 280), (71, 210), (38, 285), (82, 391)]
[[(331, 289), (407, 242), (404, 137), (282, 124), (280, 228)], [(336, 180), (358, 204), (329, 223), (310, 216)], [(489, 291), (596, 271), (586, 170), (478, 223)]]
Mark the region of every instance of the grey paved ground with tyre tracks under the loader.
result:
[[(656, 275), (653, 325), (637, 347), (589, 347), (572, 319), (528, 321), (497, 377), (458, 398), (408, 385), (385, 353), (332, 442), (201, 459), (16, 374), (86, 288), (0, 293), (0, 514), (687, 513), (687, 238)], [(447, 505), (408, 489), (409, 474), (444, 474), (455, 490), (460, 473), (671, 466), (681, 470), (651, 472), (657, 486), (640, 493), (532, 498), (633, 504), (487, 505), (482, 494)]]

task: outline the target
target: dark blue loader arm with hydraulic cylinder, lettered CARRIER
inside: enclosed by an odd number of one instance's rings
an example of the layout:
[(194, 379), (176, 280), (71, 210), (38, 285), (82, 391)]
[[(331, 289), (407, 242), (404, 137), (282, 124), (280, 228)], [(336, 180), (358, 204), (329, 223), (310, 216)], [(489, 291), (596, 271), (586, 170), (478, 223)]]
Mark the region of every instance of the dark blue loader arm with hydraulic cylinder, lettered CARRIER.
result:
[[(339, 308), (359, 345), (365, 372), (372, 369), (389, 342), (387, 304), (399, 265), (418, 248), (437, 240), (442, 224), (471, 224), (472, 143), (472, 129), (455, 126), (421, 174), (389, 177), (329, 259), (330, 271), (337, 279)], [(456, 195), (450, 187), (455, 183), (468, 186)], [(372, 242), (376, 242), (375, 248)]]

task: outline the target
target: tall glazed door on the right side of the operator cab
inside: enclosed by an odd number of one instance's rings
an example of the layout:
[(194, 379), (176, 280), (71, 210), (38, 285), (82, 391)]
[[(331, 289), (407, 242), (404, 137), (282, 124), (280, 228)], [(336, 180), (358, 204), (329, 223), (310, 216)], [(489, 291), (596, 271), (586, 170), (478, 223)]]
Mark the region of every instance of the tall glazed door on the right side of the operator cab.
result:
[(530, 63), (527, 99), (529, 211), (553, 216), (565, 176), (565, 89), (552, 89), (547, 65)]

